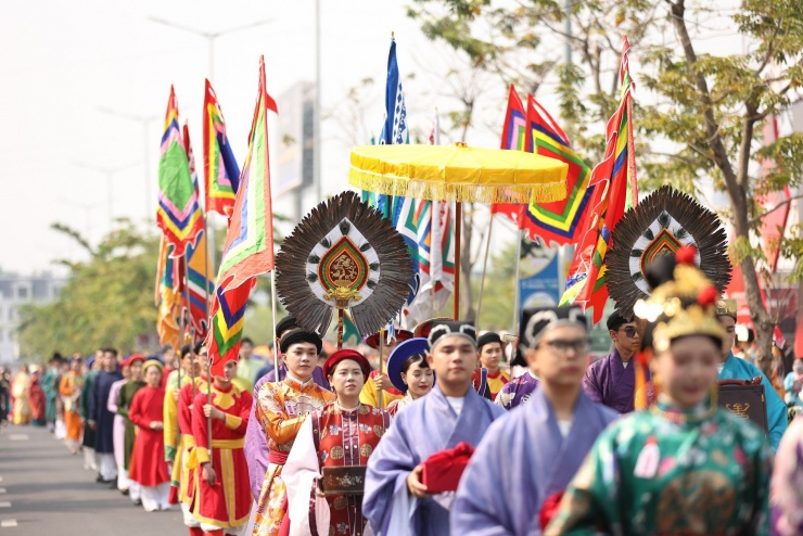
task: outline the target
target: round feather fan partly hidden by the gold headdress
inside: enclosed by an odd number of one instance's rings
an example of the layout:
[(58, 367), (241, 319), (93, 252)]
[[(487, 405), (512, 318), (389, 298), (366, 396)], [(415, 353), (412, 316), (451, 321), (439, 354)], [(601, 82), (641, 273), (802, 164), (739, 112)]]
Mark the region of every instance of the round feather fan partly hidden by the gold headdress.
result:
[(719, 218), (671, 187), (661, 187), (627, 210), (612, 241), (606, 255), (608, 292), (625, 318), (633, 317), (638, 299), (652, 293), (645, 277), (652, 259), (674, 255), (680, 246), (697, 247), (697, 266), (719, 294), (730, 282), (728, 240)]

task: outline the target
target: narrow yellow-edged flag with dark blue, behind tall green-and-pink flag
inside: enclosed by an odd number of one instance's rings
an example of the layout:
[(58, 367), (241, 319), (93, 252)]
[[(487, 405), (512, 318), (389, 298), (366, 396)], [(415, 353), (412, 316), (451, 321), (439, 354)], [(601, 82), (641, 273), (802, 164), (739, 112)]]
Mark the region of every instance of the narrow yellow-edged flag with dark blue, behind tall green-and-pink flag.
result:
[(224, 113), (209, 80), (206, 80), (204, 94), (204, 176), (206, 212), (215, 210), (230, 216), (240, 180), (240, 166), (231, 152)]

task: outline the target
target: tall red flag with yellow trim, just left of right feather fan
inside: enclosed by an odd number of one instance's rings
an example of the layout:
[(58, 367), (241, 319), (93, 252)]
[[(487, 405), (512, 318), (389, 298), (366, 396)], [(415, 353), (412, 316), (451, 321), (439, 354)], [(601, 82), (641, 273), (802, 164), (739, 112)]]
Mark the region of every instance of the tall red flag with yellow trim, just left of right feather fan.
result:
[(619, 109), (608, 122), (606, 156), (591, 173), (594, 195), (590, 212), (582, 230), (581, 243), (569, 268), (566, 290), (561, 305), (576, 303), (594, 308), (594, 322), (602, 319), (608, 286), (604, 259), (611, 245), (611, 231), (625, 210), (638, 202), (636, 152), (633, 140), (633, 81), (624, 38), (620, 66), (622, 97)]

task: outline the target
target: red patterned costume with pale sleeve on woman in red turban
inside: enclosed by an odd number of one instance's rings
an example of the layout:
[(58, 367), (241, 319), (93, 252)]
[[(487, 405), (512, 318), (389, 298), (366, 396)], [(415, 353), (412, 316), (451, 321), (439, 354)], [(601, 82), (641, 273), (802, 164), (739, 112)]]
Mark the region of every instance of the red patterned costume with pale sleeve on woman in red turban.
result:
[(388, 424), (387, 412), (364, 404), (347, 410), (335, 401), (307, 417), (282, 472), (291, 535), (364, 533), (362, 495), (327, 495), (310, 501), (310, 493), (323, 468), (366, 465)]

